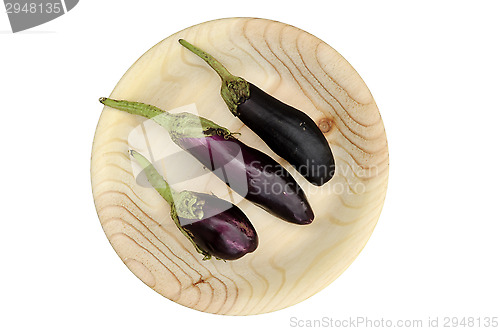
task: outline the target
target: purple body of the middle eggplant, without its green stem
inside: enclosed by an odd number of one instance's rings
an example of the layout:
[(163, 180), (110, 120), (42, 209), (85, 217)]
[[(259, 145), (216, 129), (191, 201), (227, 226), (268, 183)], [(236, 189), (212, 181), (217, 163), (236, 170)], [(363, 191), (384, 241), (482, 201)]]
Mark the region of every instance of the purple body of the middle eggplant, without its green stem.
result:
[(261, 151), (219, 134), (181, 138), (177, 143), (234, 191), (272, 215), (296, 224), (314, 219), (306, 195), (292, 175)]

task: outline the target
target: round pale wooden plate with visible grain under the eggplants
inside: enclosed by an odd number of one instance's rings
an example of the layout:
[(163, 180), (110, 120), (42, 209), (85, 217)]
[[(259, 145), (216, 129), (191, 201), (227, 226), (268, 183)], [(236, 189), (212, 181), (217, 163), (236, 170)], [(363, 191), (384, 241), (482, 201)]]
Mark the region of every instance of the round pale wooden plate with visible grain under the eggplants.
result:
[[(337, 164), (322, 187), (307, 183), (227, 110), (220, 80), (181, 47), (184, 38), (234, 74), (313, 118)], [(295, 27), (262, 19), (203, 23), (163, 40), (123, 76), (112, 98), (199, 113), (268, 153), (297, 179), (314, 209), (311, 225), (280, 221), (241, 200), (150, 121), (104, 108), (92, 150), (92, 187), (102, 227), (128, 268), (181, 305), (227, 315), (259, 314), (300, 302), (335, 280), (360, 253), (379, 218), (388, 177), (384, 126), (368, 88), (334, 49)], [(97, 96), (96, 96), (97, 99)], [(154, 159), (174, 188), (232, 199), (254, 224), (258, 249), (240, 260), (202, 261), (176, 229), (169, 206), (127, 154)], [(175, 157), (171, 157), (171, 156)], [(189, 179), (193, 178), (194, 179)]]

